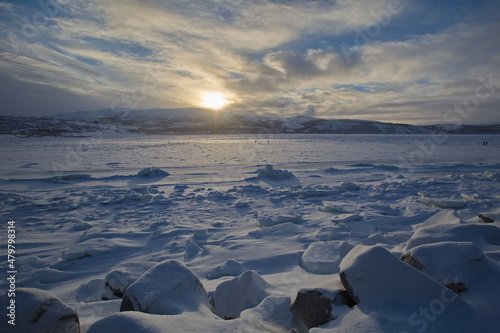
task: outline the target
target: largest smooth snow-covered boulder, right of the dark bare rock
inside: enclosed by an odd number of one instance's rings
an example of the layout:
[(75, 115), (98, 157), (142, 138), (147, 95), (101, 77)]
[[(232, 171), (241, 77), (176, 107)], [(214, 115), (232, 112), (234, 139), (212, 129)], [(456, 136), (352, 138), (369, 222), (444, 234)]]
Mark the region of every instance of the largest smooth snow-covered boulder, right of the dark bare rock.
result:
[(313, 328), (311, 333), (438, 333), (484, 328), (471, 305), (381, 246), (356, 246), (342, 260), (339, 271), (342, 284), (358, 304), (344, 308), (341, 320)]

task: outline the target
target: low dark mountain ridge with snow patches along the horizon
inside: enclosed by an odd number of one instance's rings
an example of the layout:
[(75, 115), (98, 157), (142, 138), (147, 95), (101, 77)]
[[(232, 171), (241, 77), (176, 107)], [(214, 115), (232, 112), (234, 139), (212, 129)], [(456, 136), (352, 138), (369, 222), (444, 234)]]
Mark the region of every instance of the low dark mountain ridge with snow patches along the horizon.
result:
[(0, 117), (0, 134), (89, 136), (139, 134), (500, 134), (495, 125), (415, 126), (311, 116), (245, 115), (200, 108), (79, 111), (54, 118)]

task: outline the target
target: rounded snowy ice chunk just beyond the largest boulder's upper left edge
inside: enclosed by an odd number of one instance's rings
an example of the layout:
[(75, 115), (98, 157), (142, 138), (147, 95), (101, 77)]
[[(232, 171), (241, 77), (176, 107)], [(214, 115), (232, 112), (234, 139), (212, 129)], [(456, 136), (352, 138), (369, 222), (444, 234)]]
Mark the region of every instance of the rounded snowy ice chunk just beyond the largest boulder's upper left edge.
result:
[(301, 266), (314, 274), (333, 274), (354, 245), (345, 241), (314, 242), (302, 255)]

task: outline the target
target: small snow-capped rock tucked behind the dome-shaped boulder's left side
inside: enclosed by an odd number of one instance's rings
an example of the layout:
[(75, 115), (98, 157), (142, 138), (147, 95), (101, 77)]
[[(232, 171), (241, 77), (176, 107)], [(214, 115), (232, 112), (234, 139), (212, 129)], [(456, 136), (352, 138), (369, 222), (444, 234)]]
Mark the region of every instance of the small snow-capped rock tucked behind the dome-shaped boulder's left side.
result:
[(129, 261), (122, 263), (109, 272), (104, 278), (103, 299), (111, 299), (112, 295), (123, 297), (125, 290), (156, 263), (149, 261)]

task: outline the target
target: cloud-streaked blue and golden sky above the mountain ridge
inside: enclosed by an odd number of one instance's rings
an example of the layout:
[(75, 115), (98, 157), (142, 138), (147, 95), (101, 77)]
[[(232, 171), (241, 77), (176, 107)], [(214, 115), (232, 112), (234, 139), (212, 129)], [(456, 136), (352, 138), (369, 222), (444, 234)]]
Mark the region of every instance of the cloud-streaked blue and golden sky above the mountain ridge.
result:
[(498, 0), (0, 0), (0, 115), (212, 94), (245, 114), (500, 123), (499, 18)]

